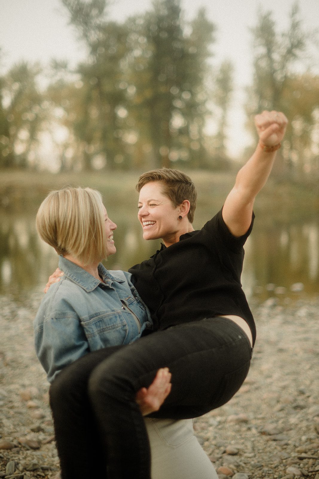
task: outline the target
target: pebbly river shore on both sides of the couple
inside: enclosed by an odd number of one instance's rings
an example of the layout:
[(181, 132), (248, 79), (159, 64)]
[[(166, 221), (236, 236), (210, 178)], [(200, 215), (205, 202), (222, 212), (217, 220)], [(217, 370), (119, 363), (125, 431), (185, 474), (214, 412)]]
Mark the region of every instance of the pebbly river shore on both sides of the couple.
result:
[[(59, 471), (48, 383), (33, 351), (41, 297), (0, 297), (0, 478)], [(251, 370), (228, 404), (195, 421), (198, 440), (220, 479), (319, 479), (319, 297), (270, 297), (252, 309)]]

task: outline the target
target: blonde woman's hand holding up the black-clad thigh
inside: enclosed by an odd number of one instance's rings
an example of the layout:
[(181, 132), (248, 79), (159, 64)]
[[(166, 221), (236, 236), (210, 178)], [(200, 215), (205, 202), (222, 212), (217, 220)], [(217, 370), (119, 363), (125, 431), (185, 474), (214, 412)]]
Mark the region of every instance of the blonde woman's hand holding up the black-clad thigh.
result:
[(171, 392), (171, 377), (172, 375), (167, 367), (159, 369), (151, 386), (142, 388), (137, 392), (135, 401), (139, 405), (143, 416), (160, 409)]

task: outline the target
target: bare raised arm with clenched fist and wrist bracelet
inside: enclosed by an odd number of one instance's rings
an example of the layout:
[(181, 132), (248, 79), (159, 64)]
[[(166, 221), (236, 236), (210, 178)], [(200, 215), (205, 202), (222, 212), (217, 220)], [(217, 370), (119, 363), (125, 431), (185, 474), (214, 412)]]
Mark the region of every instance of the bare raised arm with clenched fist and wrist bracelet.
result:
[(255, 116), (259, 136), (257, 148), (238, 172), (222, 211), (223, 220), (234, 236), (242, 236), (250, 227), (255, 197), (272, 170), (287, 123), (286, 116), (280, 112), (264, 111)]

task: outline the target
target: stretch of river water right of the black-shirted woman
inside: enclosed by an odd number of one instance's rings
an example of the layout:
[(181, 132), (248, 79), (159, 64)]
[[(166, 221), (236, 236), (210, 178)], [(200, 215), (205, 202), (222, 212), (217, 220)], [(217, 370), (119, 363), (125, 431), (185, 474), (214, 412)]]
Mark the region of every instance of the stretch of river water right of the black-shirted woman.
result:
[(319, 223), (256, 225), (245, 245), (242, 284), (247, 296), (318, 295)]

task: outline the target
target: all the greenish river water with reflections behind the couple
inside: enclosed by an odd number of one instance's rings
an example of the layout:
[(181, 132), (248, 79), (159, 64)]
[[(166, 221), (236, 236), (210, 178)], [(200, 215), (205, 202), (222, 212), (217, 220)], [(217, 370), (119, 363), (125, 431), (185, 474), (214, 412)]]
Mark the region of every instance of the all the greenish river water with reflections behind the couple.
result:
[[(205, 217), (204, 217), (205, 216)], [(159, 241), (144, 241), (136, 212), (113, 208), (118, 229), (114, 234), (117, 254), (105, 265), (109, 269), (127, 270), (143, 261), (160, 246)], [(41, 290), (57, 267), (57, 255), (37, 236), (35, 213), (0, 215), (0, 294), (19, 299), (35, 289)], [(198, 212), (195, 228), (209, 219)], [(296, 284), (302, 284), (297, 285)], [(319, 291), (319, 221), (282, 224), (255, 222), (245, 245), (242, 285), (247, 297), (262, 301), (269, 296), (304, 295)]]

